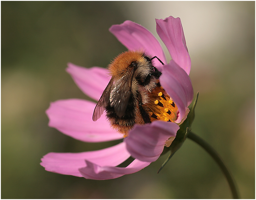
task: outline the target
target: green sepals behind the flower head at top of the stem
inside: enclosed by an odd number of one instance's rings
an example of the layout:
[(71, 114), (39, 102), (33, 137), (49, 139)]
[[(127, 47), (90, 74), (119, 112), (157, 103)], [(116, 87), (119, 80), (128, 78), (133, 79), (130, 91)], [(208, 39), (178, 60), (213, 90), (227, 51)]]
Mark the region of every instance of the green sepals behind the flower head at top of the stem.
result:
[(183, 142), (187, 138), (187, 135), (188, 135), (189, 131), (191, 131), (191, 125), (192, 125), (192, 123), (195, 119), (195, 107), (196, 107), (196, 103), (197, 103), (197, 99), (198, 99), (198, 94), (199, 93), (197, 92), (196, 99), (194, 100), (193, 103), (190, 104), (190, 106), (189, 106), (190, 111), (187, 115), (187, 118), (180, 125), (180, 129), (178, 129), (176, 137), (172, 141), (172, 144), (170, 145), (170, 147), (164, 148), (164, 151), (161, 155), (165, 154), (167, 151), (170, 151), (170, 154), (169, 154), (168, 158), (165, 160), (165, 162), (162, 164), (161, 168), (158, 170), (157, 173), (159, 173), (161, 171), (161, 169), (165, 166), (165, 164), (172, 158), (174, 153), (179, 148), (181, 148), (181, 146), (183, 145)]

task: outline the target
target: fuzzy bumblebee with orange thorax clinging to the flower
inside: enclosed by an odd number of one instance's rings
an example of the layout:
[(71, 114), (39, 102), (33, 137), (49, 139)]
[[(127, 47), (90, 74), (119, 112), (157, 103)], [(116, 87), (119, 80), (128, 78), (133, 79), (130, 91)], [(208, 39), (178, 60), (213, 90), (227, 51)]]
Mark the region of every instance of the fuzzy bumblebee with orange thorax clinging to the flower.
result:
[(153, 66), (154, 58), (141, 51), (126, 51), (113, 60), (108, 66), (112, 77), (94, 109), (93, 121), (106, 110), (111, 126), (124, 136), (134, 124), (151, 123), (147, 104), (162, 74)]

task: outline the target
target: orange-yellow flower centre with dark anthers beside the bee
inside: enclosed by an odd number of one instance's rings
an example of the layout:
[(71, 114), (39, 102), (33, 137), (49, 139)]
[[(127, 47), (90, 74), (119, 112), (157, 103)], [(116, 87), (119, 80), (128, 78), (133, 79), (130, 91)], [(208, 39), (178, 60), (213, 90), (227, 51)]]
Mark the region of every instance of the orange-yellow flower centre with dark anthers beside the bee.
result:
[(177, 119), (177, 106), (167, 95), (160, 84), (149, 94), (149, 103), (146, 104), (151, 121), (162, 120), (173, 122)]

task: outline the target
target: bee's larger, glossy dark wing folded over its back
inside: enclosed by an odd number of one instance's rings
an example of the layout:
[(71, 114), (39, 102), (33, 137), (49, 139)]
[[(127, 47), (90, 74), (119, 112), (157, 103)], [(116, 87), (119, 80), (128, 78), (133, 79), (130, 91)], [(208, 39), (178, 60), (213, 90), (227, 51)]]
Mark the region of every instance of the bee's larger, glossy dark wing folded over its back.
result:
[(110, 106), (115, 108), (117, 116), (122, 117), (126, 111), (132, 87), (132, 79), (135, 73), (135, 67), (132, 67), (110, 92)]

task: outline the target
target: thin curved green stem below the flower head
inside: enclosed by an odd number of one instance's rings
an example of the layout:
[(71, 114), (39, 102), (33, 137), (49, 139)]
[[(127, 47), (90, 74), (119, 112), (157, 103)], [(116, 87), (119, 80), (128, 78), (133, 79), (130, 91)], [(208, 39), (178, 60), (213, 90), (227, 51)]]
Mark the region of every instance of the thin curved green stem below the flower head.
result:
[(224, 162), (221, 160), (218, 153), (205, 140), (203, 140), (202, 138), (200, 138), (199, 136), (197, 136), (193, 132), (189, 132), (187, 137), (189, 139), (193, 140), (194, 142), (196, 142), (202, 148), (204, 148), (211, 155), (211, 157), (217, 162), (217, 164), (220, 166), (222, 172), (224, 173), (224, 175), (225, 175), (225, 177), (226, 177), (226, 179), (229, 183), (229, 187), (231, 189), (233, 199), (239, 199), (236, 184), (235, 184), (235, 180), (231, 176), (231, 173), (229, 172), (229, 170), (225, 166)]

